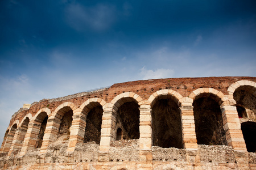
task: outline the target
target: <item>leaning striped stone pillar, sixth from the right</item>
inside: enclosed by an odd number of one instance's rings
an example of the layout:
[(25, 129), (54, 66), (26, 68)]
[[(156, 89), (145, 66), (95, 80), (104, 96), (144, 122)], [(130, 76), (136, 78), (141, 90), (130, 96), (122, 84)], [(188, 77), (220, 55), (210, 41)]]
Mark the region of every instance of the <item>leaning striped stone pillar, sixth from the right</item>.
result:
[(44, 131), (43, 143), (40, 148), (40, 154), (45, 154), (50, 143), (57, 139), (60, 128), (60, 117), (59, 114), (51, 116), (47, 120), (46, 130)]

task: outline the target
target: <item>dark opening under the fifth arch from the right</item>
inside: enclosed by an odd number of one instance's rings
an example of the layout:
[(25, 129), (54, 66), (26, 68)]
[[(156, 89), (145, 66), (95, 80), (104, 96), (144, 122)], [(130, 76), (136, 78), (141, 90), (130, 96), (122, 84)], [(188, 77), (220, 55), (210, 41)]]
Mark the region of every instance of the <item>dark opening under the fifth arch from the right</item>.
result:
[(102, 115), (103, 109), (101, 105), (94, 107), (87, 114), (84, 143), (95, 141), (97, 144), (100, 144)]

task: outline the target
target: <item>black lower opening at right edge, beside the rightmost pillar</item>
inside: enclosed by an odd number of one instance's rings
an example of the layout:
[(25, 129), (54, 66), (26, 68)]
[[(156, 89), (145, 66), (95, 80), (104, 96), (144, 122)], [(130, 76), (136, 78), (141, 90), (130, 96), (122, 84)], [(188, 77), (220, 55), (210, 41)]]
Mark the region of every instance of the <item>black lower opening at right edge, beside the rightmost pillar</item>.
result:
[(256, 151), (256, 123), (255, 122), (243, 122), (241, 124), (243, 133), (243, 139), (248, 152)]

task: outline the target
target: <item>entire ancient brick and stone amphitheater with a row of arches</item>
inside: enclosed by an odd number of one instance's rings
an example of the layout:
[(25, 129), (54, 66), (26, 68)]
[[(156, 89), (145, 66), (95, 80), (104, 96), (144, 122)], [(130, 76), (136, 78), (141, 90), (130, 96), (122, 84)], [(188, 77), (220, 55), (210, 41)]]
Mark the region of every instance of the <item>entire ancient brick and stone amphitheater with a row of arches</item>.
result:
[(138, 80), (24, 104), (1, 169), (256, 169), (256, 78)]

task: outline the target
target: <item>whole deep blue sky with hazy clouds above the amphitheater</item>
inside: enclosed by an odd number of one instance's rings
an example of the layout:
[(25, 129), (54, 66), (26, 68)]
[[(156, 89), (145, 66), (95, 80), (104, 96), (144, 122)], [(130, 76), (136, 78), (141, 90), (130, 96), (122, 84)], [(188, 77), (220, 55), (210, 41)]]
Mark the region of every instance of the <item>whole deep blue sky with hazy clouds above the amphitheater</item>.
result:
[(256, 75), (256, 1), (0, 1), (0, 141), (24, 103), (155, 78)]

